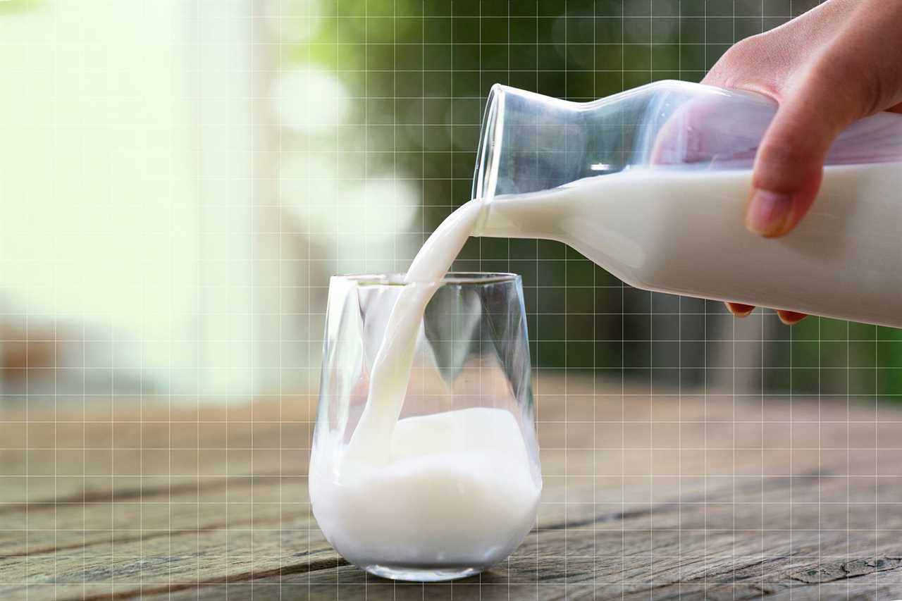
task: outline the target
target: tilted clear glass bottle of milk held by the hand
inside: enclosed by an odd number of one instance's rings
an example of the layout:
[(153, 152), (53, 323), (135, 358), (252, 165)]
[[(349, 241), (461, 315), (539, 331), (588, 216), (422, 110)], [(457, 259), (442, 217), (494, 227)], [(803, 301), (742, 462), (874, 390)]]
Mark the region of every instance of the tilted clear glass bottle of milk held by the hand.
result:
[(652, 291), (902, 327), (902, 115), (851, 125), (787, 236), (743, 226), (776, 105), (662, 81), (591, 103), (492, 88), (475, 236), (548, 238)]

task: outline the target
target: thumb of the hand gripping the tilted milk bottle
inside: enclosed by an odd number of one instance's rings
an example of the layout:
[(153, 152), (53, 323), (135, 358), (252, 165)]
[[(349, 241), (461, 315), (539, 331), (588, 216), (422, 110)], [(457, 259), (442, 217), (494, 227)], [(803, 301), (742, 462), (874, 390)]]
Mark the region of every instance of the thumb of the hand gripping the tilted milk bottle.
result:
[(833, 140), (861, 111), (827, 82), (805, 82), (780, 103), (755, 156), (745, 226), (759, 236), (787, 234), (821, 186)]

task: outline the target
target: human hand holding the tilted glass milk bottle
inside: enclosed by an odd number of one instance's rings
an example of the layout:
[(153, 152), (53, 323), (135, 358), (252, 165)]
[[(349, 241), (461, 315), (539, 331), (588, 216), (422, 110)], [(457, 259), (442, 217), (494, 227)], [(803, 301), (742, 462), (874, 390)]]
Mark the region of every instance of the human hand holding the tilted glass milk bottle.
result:
[[(902, 3), (828, 0), (769, 32), (738, 42), (702, 83), (746, 89), (779, 104), (755, 157), (745, 225), (783, 236), (805, 217), (824, 157), (852, 122), (902, 113)], [(744, 317), (754, 307), (728, 302)], [(793, 324), (805, 315), (778, 310)]]

